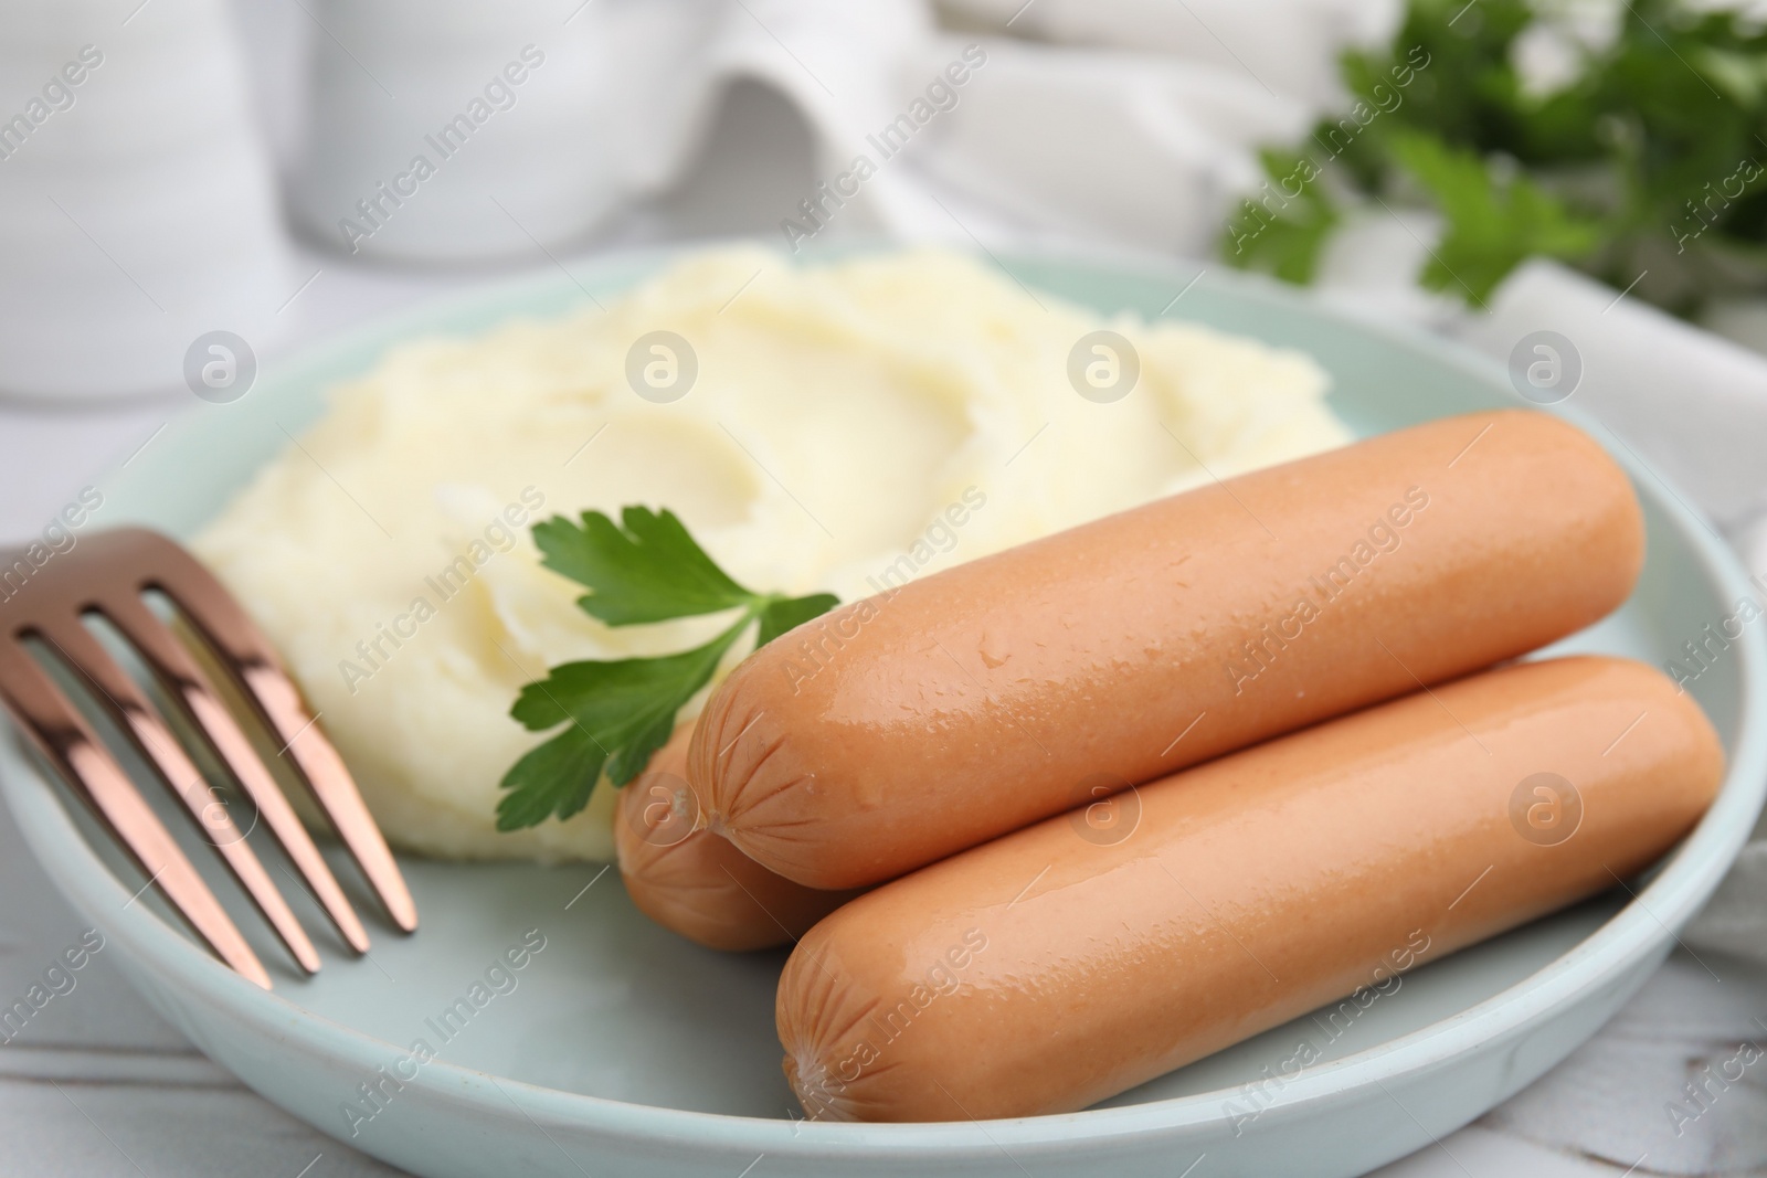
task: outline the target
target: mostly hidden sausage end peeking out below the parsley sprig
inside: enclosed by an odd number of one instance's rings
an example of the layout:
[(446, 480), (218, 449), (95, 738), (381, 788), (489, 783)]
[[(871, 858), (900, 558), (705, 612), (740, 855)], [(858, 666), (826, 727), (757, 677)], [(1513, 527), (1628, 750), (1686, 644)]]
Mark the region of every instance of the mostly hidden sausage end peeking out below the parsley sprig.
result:
[(620, 791), (613, 844), (626, 892), (647, 917), (709, 948), (770, 948), (852, 899), (767, 871), (728, 839), (694, 830), (687, 789), (689, 726)]

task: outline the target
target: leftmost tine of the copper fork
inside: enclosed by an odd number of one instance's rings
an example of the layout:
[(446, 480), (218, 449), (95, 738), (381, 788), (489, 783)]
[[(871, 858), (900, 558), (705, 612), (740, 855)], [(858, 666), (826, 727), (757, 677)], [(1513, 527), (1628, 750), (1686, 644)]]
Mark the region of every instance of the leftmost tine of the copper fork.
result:
[(270, 989), (270, 975), (263, 970), (263, 963), (228, 920), (214, 892), (196, 874), (191, 860), (148, 809), (122, 766), (111, 759), (30, 652), (11, 641), (12, 636), (5, 638), (7, 641), (0, 641), (0, 703), (5, 703), (32, 744), (127, 848), (147, 874), (148, 887), (159, 887), (226, 964), (263, 989)]

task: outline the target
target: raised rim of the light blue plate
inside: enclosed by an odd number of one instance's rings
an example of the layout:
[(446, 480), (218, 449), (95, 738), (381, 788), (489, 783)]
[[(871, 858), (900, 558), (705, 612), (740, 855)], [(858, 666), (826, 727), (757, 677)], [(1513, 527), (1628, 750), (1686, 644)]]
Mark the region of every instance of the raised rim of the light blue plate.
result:
[[(671, 258), (726, 244), (767, 249), (753, 238), (671, 244), (610, 251), (587, 260), (581, 268), (588, 286), (613, 293), (626, 290), (633, 281)], [(815, 263), (898, 249), (903, 249), (903, 244), (855, 242), (806, 251), (802, 261)], [(781, 254), (777, 249), (770, 249), (770, 253)], [(974, 249), (959, 253), (981, 258)], [(1002, 251), (1002, 254), (1005, 260), (1021, 263), (1060, 263), (1083, 267), (1096, 274), (1119, 272), (1175, 281), (1200, 277), (1200, 274), (1214, 270), (1203, 263), (1108, 249), (1032, 247)], [(990, 258), (1011, 274), (1005, 261), (993, 254)], [(1433, 353), (1437, 360), (1460, 369), (1479, 383), (1498, 390), (1507, 387), (1502, 380), (1504, 369), (1497, 360), (1460, 341), (1444, 339), (1408, 323), (1362, 316), (1352, 309), (1332, 306), (1318, 293), (1297, 290), (1258, 274), (1217, 272), (1217, 283), (1233, 288), (1235, 293), (1285, 304), (1290, 311), (1323, 318), (1408, 351)], [(436, 327), (440, 320), (484, 314), (479, 332), (497, 330), (500, 325), (527, 316), (511, 304), (560, 297), (569, 300), (571, 286), (583, 293), (588, 291), (571, 270), (565, 270), (564, 276), (530, 272), (507, 281), (486, 283), (470, 291), (426, 300), (295, 350), (277, 362), (276, 378), (277, 383), (300, 380), (304, 371), (322, 367), (327, 357), (373, 344), (383, 350), (419, 330), (436, 334), (445, 330)], [(1530, 408), (1520, 397), (1516, 403)], [(1578, 408), (1560, 404), (1546, 412), (1571, 420), (1601, 442), (1599, 422)], [(191, 406), (173, 420), (168, 433), (196, 429), (200, 413), (201, 406)], [(1633, 477), (1640, 496), (1654, 500), (1656, 507), (1689, 542), (1703, 579), (1725, 597), (1746, 593), (1749, 586), (1746, 572), (1718, 539), (1710, 519), (1693, 509), (1672, 480), (1645, 464), (1629, 447), (1622, 445), (1624, 452), (1617, 452), (1603, 443), (1603, 449)], [(118, 475), (120, 468), (113, 466), (101, 477), (99, 484), (106, 486)], [(1652, 487), (1652, 484), (1656, 486)], [(1336, 1100), (1352, 1100), (1371, 1083), (1440, 1065), (1483, 1042), (1516, 1033), (1603, 982), (1624, 977), (1629, 966), (1645, 963), (1652, 954), (1666, 954), (1668, 947), (1679, 940), (1679, 929), (1728, 872), (1755, 827), (1763, 798), (1767, 798), (1767, 719), (1762, 719), (1762, 701), (1767, 699), (1767, 636), (1762, 634), (1760, 627), (1748, 629), (1735, 645), (1739, 648), (1742, 719), (1725, 782), (1695, 830), (1659, 860), (1661, 869), (1647, 887), (1638, 890), (1599, 929), (1541, 970), (1447, 1019), (1348, 1056), (1308, 1067), (1285, 1083), (1262, 1111), (1293, 1111), (1299, 1106), (1329, 1107)], [(80, 835), (74, 818), (67, 812), (55, 786), (37, 772), (35, 765), (23, 759), (12, 744), (0, 745), (0, 770), (5, 770), (0, 772), (0, 791), (12, 809), (32, 855), (62, 894), (85, 915), (90, 917), (90, 911), (108, 913), (104, 931), (125, 941), (138, 954), (140, 964), (171, 977), (196, 998), (224, 1007), (233, 1019), (256, 1026), (267, 1037), (292, 1044), (300, 1042), (304, 1051), (322, 1058), (346, 1060), (352, 1069), (360, 1065), (360, 1070), (371, 1072), (376, 1061), (385, 1061), (389, 1054), (403, 1051), (389, 1040), (334, 1023), (283, 993), (260, 991), (148, 908), (124, 908), (120, 901), (129, 897), (127, 890)], [(46, 855), (46, 850), (55, 853)], [(1134, 1106), (988, 1121), (829, 1123), (671, 1109), (594, 1097), (495, 1077), (445, 1060), (436, 1060), (422, 1069), (419, 1077), (406, 1086), (424, 1090), (429, 1100), (472, 1109), (514, 1102), (509, 1093), (516, 1091), (523, 1095), (523, 1100), (518, 1102), (521, 1113), (530, 1118), (544, 1116), (553, 1125), (633, 1139), (686, 1137), (694, 1146), (755, 1148), (800, 1157), (806, 1152), (823, 1157), (852, 1157), (875, 1148), (889, 1148), (896, 1155), (997, 1153), (1000, 1144), (990, 1129), (1009, 1132), (1007, 1143), (1025, 1150), (1067, 1146), (1078, 1141), (1124, 1141), (1217, 1121), (1221, 1120), (1223, 1099), (1235, 1091), (1210, 1090)]]

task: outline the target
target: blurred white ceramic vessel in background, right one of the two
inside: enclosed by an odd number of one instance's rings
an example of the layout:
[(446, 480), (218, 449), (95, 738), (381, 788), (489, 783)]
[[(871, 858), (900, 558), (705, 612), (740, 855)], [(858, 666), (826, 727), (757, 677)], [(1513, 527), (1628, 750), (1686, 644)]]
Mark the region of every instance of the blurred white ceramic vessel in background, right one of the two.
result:
[(302, 231), (368, 258), (532, 256), (679, 170), (717, 0), (322, 0)]

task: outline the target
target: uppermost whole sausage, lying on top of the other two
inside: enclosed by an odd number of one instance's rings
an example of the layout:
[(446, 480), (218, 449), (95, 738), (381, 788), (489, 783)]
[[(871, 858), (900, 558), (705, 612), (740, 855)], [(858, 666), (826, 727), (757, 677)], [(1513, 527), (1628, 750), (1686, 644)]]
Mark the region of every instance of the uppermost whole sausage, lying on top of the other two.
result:
[(1521, 655), (1643, 563), (1624, 472), (1534, 412), (1403, 429), (852, 602), (700, 719), (712, 828), (813, 887), (894, 878)]

